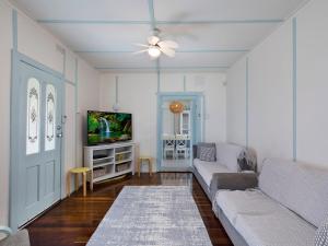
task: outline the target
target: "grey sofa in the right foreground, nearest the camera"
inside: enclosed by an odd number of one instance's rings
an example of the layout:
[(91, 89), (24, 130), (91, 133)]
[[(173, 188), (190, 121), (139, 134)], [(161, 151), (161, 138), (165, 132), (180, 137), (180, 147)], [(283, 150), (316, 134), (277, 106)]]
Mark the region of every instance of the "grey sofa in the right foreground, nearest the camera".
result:
[(215, 180), (213, 210), (235, 246), (328, 245), (328, 169), (270, 159), (258, 179)]

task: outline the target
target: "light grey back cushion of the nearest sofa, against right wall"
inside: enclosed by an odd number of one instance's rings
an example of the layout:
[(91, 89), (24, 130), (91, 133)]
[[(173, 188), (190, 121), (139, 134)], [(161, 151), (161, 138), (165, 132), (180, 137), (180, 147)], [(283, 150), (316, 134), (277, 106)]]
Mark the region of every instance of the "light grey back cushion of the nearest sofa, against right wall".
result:
[(259, 188), (316, 227), (328, 213), (328, 169), (268, 159), (259, 176)]

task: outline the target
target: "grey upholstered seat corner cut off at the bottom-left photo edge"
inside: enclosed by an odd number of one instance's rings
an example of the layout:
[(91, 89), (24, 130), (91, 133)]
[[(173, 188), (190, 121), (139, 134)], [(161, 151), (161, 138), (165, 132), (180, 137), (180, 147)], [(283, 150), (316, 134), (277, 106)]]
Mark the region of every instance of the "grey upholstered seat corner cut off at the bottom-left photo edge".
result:
[(0, 226), (0, 234), (5, 235), (3, 239), (0, 239), (0, 246), (30, 246), (27, 230), (22, 230), (13, 234), (9, 227)]

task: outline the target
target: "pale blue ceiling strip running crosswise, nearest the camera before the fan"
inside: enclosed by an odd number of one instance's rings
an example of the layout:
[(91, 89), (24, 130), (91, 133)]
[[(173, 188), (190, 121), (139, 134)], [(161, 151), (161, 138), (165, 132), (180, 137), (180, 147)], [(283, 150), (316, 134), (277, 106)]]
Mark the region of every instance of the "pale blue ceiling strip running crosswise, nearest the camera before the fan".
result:
[[(283, 19), (254, 20), (209, 20), (209, 21), (155, 21), (154, 25), (194, 25), (194, 24), (271, 24), (281, 23)], [(98, 24), (98, 25), (152, 25), (151, 21), (120, 21), (120, 20), (37, 20), (43, 24)]]

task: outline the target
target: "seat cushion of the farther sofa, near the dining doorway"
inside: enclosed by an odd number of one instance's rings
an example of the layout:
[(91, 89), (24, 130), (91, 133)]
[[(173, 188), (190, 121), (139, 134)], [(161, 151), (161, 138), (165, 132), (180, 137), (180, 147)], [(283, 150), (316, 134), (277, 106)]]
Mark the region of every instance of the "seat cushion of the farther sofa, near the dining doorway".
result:
[(211, 185), (212, 176), (215, 173), (231, 173), (229, 168), (223, 165), (220, 165), (216, 162), (204, 162), (199, 159), (194, 160), (194, 166), (197, 172), (200, 174), (208, 187)]

